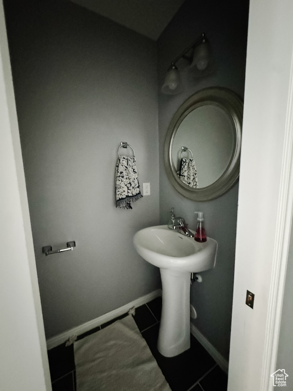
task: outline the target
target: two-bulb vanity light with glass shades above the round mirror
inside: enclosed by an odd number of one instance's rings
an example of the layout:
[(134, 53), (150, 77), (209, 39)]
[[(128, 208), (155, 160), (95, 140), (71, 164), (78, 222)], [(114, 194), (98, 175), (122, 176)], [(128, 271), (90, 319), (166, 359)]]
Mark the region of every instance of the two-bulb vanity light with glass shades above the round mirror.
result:
[[(193, 49), (192, 53), (191, 50)], [(188, 55), (190, 52), (191, 55)], [(190, 63), (192, 74), (195, 77), (206, 76), (211, 73), (211, 48), (204, 33), (171, 62), (167, 70), (161, 91), (163, 94), (175, 95), (183, 91), (182, 81), (176, 63), (184, 59)]]

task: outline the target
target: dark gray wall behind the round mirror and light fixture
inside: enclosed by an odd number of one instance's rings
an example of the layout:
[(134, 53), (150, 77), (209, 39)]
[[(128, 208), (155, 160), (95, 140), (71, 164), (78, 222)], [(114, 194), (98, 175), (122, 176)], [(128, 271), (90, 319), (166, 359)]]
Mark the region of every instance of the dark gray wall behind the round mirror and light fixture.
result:
[[(206, 33), (212, 44), (217, 71), (214, 75), (197, 80), (183, 71), (185, 90), (182, 94), (168, 96), (159, 93), (160, 220), (161, 224), (166, 224), (168, 212), (174, 207), (175, 214), (185, 217), (189, 227), (195, 229), (194, 211), (201, 210), (208, 236), (218, 241), (216, 268), (203, 272), (203, 282), (191, 287), (191, 303), (198, 316), (192, 322), (228, 358), (238, 185), (214, 201), (189, 201), (168, 182), (163, 151), (171, 118), (190, 95), (203, 88), (219, 86), (229, 88), (243, 97), (248, 2), (207, 0), (196, 3), (196, 6), (194, 3), (193, 0), (185, 2), (158, 40), (159, 85), (163, 83), (170, 62), (202, 32)], [(183, 65), (183, 62), (178, 63), (179, 67)]]

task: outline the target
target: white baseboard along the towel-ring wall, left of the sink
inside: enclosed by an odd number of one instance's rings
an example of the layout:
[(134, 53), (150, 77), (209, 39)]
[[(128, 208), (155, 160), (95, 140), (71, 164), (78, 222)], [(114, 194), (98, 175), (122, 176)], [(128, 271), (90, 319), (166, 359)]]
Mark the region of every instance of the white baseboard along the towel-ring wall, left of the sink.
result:
[(110, 311), (107, 314), (99, 316), (96, 319), (83, 323), (80, 326), (73, 327), (72, 329), (64, 331), (55, 337), (49, 338), (46, 341), (47, 349), (50, 350), (58, 345), (61, 345), (65, 341), (67, 341), (69, 337), (73, 335), (79, 336), (80, 334), (83, 334), (86, 331), (90, 331), (92, 328), (98, 327), (103, 323), (109, 322), (110, 320), (115, 319), (116, 317), (127, 313), (132, 307), (135, 308), (139, 307), (140, 305), (145, 304), (159, 296), (162, 296), (161, 289), (157, 289), (156, 291), (153, 291), (148, 295), (139, 297), (138, 299), (131, 301), (130, 303), (125, 304), (122, 307), (117, 308), (116, 310)]

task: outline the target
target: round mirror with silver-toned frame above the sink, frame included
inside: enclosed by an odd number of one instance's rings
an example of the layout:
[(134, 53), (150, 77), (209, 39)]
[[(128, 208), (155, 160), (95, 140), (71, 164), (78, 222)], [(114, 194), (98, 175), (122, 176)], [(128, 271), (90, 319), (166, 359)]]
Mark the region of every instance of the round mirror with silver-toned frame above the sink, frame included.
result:
[(220, 197), (239, 178), (243, 102), (225, 88), (188, 98), (172, 118), (165, 140), (165, 168), (184, 197)]

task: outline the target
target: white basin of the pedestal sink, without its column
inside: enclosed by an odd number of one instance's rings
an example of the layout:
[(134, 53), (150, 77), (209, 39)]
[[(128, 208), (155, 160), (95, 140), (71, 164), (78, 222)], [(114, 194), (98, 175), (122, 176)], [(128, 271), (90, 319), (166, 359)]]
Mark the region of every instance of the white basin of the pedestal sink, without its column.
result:
[(133, 243), (145, 261), (164, 269), (193, 273), (212, 269), (216, 263), (216, 240), (199, 243), (166, 225), (138, 231)]

